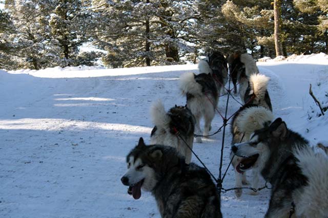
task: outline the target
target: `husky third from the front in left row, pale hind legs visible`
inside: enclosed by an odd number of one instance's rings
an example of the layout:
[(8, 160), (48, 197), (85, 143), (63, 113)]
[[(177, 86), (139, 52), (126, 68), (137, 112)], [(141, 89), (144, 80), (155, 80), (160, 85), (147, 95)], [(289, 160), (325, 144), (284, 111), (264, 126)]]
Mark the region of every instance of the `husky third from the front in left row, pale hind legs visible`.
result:
[[(195, 116), (196, 134), (201, 135), (199, 122), (200, 118), (204, 117), (205, 124), (203, 135), (208, 136), (218, 102), (217, 89), (211, 74), (182, 74), (180, 76), (180, 90), (182, 95), (187, 96), (187, 107)], [(197, 137), (196, 142), (201, 143), (201, 138)]]

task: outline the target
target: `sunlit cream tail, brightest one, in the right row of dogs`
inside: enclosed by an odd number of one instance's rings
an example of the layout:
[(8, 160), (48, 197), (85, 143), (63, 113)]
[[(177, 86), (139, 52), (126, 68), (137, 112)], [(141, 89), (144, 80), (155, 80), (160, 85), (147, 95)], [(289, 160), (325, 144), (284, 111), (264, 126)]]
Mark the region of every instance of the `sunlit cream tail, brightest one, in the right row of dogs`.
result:
[(255, 94), (257, 99), (264, 99), (265, 91), (267, 91), (267, 86), (270, 78), (262, 74), (253, 74), (250, 77), (250, 86), (253, 94)]

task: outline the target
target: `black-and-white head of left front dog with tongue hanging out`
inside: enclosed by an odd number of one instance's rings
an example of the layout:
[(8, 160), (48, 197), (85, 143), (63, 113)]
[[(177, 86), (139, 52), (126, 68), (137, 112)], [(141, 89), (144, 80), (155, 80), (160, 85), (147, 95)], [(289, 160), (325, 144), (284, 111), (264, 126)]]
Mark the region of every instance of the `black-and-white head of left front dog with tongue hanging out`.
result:
[[(170, 157), (170, 161), (167, 157)], [(129, 186), (128, 193), (134, 199), (139, 199), (141, 189), (153, 191), (158, 181), (166, 175), (166, 171), (179, 167), (183, 160), (175, 148), (163, 145), (146, 146), (144, 139), (140, 138), (127, 156), (128, 170), (121, 182)]]

